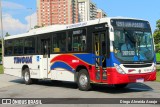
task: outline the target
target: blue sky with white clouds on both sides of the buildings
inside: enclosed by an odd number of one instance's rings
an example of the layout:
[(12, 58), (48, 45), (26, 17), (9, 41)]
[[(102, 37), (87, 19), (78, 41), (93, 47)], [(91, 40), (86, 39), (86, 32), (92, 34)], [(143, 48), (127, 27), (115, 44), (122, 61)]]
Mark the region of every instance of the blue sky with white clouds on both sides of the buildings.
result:
[[(3, 31), (11, 35), (25, 33), (37, 25), (36, 0), (1, 0)], [(148, 20), (152, 31), (160, 19), (160, 0), (92, 0), (108, 17), (131, 17)], [(31, 19), (31, 23), (30, 23)], [(0, 27), (1, 29), (1, 27)]]

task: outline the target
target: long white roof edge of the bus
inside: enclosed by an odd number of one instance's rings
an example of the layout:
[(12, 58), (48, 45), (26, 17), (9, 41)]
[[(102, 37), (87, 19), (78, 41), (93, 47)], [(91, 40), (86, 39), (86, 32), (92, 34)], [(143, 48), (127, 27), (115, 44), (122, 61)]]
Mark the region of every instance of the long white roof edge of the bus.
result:
[(111, 24), (109, 22), (111, 19), (131, 19), (131, 20), (145, 21), (143, 19), (135, 19), (135, 18), (127, 18), (127, 17), (106, 17), (106, 18), (90, 20), (90, 21), (80, 22), (80, 23), (75, 23), (75, 24), (51, 25), (51, 26), (47, 26), (47, 27), (32, 29), (27, 33), (8, 36), (8, 37), (5, 37), (4, 39), (7, 40), (7, 39), (21, 38), (21, 37), (33, 36), (33, 35), (38, 35), (38, 34), (45, 34), (45, 33), (56, 32), (56, 31), (63, 31), (63, 30), (67, 30), (67, 29), (85, 27), (85, 26), (90, 26), (90, 25), (95, 25), (95, 24), (100, 24), (100, 23), (105, 23), (105, 22), (106, 23), (108, 22), (108, 26), (110, 26)]

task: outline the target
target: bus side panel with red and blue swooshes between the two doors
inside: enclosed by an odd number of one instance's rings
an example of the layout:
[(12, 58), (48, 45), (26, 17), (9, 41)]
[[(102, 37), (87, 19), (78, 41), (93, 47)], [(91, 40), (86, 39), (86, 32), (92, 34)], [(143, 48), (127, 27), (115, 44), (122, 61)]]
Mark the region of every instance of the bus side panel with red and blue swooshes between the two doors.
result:
[[(89, 70), (92, 66), (92, 54), (59, 54), (51, 58), (52, 79), (63, 81), (74, 81), (78, 66), (84, 66)], [(91, 71), (89, 71), (90, 73)]]

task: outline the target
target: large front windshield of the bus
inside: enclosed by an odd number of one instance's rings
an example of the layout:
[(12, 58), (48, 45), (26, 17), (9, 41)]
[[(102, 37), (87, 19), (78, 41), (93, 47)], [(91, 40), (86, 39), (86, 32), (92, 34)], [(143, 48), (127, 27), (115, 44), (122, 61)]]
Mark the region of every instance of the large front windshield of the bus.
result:
[(115, 29), (114, 35), (114, 53), (120, 62), (153, 61), (154, 48), (150, 31)]

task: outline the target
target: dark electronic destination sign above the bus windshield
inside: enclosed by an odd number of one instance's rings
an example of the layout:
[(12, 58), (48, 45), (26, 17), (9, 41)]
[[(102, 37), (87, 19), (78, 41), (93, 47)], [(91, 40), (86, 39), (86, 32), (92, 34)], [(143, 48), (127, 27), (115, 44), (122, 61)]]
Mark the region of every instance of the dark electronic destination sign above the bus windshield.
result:
[(127, 28), (150, 28), (147, 21), (140, 20), (111, 20), (111, 24), (115, 27), (127, 27)]

